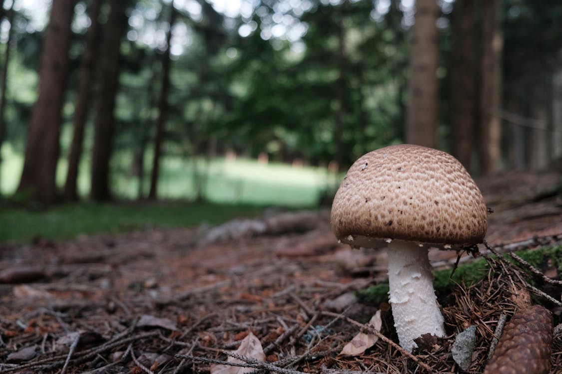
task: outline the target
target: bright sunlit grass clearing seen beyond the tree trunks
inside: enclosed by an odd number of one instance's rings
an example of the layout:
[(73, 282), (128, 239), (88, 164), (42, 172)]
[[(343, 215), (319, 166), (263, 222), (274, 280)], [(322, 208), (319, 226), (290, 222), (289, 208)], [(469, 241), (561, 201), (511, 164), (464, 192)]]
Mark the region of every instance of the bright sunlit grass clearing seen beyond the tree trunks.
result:
[[(65, 152), (63, 152), (65, 154)], [(86, 153), (88, 154), (88, 153)], [(0, 192), (10, 196), (17, 187), (23, 166), (22, 155), (11, 144), (2, 147)], [(152, 156), (147, 153), (144, 194), (149, 187), (149, 167)], [(295, 168), (287, 164), (257, 163), (255, 160), (216, 158), (209, 161), (167, 157), (162, 160), (158, 181), (158, 197), (173, 200), (193, 200), (196, 191), (194, 163), (203, 176), (203, 195), (206, 200), (226, 204), (276, 205), (289, 207), (314, 206), (326, 188), (339, 184), (340, 177), (323, 168)], [(138, 197), (139, 180), (130, 173), (132, 155), (117, 152), (112, 159), (111, 189), (117, 198), (132, 200)], [(80, 164), (78, 190), (82, 197), (89, 192), (90, 160)], [(57, 168), (57, 185), (62, 188), (67, 162), (61, 158)]]

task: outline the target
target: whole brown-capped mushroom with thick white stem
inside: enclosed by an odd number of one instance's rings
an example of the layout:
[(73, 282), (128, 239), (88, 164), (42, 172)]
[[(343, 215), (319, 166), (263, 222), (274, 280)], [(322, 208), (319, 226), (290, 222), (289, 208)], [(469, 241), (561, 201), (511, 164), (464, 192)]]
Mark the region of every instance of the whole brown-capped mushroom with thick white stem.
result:
[(389, 302), (404, 349), (423, 334), (446, 335), (428, 248), (481, 243), (487, 228), (482, 193), (458, 160), (409, 144), (371, 151), (348, 170), (330, 221), (343, 243), (388, 248)]

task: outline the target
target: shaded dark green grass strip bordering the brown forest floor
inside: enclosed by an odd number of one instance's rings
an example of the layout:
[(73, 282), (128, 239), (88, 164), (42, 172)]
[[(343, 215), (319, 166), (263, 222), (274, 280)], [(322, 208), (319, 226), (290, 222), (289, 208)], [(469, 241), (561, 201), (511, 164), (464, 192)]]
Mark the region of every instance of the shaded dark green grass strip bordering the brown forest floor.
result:
[(121, 233), (152, 227), (220, 224), (260, 214), (264, 207), (239, 204), (143, 202), (65, 204), (43, 211), (0, 206), (0, 243), (29, 242), (34, 237), (75, 238), (79, 234)]

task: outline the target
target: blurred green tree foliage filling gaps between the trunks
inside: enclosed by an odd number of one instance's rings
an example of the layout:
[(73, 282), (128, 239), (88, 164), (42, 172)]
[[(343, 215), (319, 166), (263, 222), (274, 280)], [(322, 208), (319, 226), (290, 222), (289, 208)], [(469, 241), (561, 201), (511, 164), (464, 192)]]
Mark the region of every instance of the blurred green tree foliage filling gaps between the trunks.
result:
[[(400, 1), (389, 2), (388, 12), (372, 18), (380, 2), (314, 0), (306, 2), (310, 7), (304, 7), (302, 2), (300, 8), (290, 9), (285, 6), (288, 2), (267, 0), (254, 2), (256, 9), (250, 16), (234, 19), (217, 13), (209, 2), (192, 3), (201, 6), (199, 16), (184, 5), (178, 9), (179, 31), (174, 37), (183, 38), (183, 52), (174, 55), (171, 62), (164, 160), (212, 158), (234, 150), (251, 158), (266, 153), (269, 160), (290, 162), (299, 158), (312, 165), (326, 165), (339, 151), (341, 167), (345, 169), (361, 154), (404, 140), (409, 27), (405, 25)], [(146, 167), (150, 167), (156, 101), (161, 87), (161, 53), (166, 47), (158, 35), (169, 27), (167, 20), (173, 3), (137, 0), (130, 4), (130, 31), (138, 37), (130, 36), (121, 44), (113, 144), (117, 160), (112, 161), (111, 170), (112, 178), (123, 178), (125, 174), (129, 181), (140, 177), (128, 174), (134, 160), (144, 160)], [(443, 7), (449, 10), (455, 6), (447, 4)], [(88, 13), (82, 2), (77, 9), (83, 7), (85, 11), (77, 11), (76, 19)], [(107, 12), (106, 4), (102, 8), (102, 23), (107, 20)], [(550, 71), (558, 66), (562, 39), (556, 31), (562, 6), (506, 0), (504, 13), (507, 79), (523, 80), (525, 73)], [(31, 14), (25, 9), (16, 13), (8, 71), (5, 142), (10, 151), (18, 153), (24, 151), (26, 124), (37, 95), (38, 56), (44, 33), (34, 29)], [(283, 21), (279, 21), (279, 16)], [(262, 37), (268, 27), (282, 25), (285, 17), (305, 25), (306, 33), (301, 39), (290, 40), (287, 35)], [(447, 21), (450, 15), (440, 17)], [(439, 134), (445, 139), (451, 96), (446, 67), (454, 45), (448, 23), (440, 24)], [(70, 142), (68, 127), (84, 50), (84, 25), (78, 27), (70, 50), (66, 130), (63, 128), (65, 138), (61, 140), (63, 159)], [(244, 37), (238, 34), (243, 25), (252, 25), (253, 30)], [(285, 26), (291, 31), (294, 25)], [(2, 56), (4, 48), (0, 45)], [(103, 78), (97, 76), (100, 79)], [(95, 93), (96, 85), (93, 86)], [(89, 124), (95, 115), (90, 114)], [(85, 159), (89, 157), (91, 133), (87, 127)], [(123, 159), (130, 164), (121, 163)], [(197, 173), (192, 176), (196, 178)], [(138, 186), (138, 181), (135, 183)], [(135, 183), (126, 190), (136, 190)], [(2, 181), (3, 191), (8, 190), (5, 186)], [(143, 186), (139, 189), (143, 190)]]

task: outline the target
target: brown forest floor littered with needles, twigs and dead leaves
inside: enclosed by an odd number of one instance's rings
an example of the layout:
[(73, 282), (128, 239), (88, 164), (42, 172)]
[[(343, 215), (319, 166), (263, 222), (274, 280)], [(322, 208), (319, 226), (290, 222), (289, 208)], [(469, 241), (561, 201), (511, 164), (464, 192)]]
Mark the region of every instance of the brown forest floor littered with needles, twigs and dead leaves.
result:
[[(437, 290), (449, 335), (420, 341), (414, 354), (396, 344), (388, 304), (357, 298), (386, 279), (384, 251), (338, 244), (328, 210), (271, 212), (215, 228), (2, 246), (0, 373), (457, 373), (451, 347), (469, 325), (477, 332), (465, 372), (481, 373), (523, 289), (554, 316), (550, 372), (560, 373), (559, 258), (531, 267), (486, 255), (562, 243), (560, 176), (479, 186), (493, 209), (479, 248), (491, 271)], [(452, 269), (457, 253), (431, 250), (430, 259)], [(382, 326), (366, 327), (377, 310)], [(360, 331), (370, 343), (341, 354)]]

